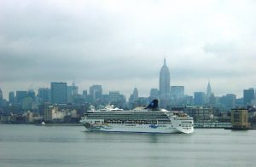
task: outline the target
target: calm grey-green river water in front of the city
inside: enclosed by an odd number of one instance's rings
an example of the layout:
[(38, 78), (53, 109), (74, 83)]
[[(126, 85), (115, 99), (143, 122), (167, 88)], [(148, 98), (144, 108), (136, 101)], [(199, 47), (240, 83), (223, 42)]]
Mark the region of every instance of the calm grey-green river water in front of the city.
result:
[(255, 166), (256, 130), (193, 134), (86, 132), (0, 124), (0, 166)]

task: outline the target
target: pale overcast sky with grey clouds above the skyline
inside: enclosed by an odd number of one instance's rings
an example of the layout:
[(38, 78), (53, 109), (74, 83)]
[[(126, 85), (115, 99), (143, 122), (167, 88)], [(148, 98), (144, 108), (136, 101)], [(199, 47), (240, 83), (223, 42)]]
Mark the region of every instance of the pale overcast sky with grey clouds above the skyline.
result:
[(255, 18), (253, 0), (0, 0), (0, 88), (8, 98), (74, 76), (79, 92), (148, 96), (166, 58), (187, 95), (210, 80), (239, 97), (256, 87)]

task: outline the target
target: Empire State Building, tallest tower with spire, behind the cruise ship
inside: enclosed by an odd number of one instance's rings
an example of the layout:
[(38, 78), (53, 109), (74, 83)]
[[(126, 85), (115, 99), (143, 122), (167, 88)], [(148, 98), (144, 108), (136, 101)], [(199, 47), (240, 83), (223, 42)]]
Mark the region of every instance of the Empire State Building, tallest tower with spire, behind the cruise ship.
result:
[(164, 66), (160, 70), (160, 99), (166, 99), (167, 95), (170, 93), (170, 72), (169, 68), (166, 66), (166, 59), (164, 60)]

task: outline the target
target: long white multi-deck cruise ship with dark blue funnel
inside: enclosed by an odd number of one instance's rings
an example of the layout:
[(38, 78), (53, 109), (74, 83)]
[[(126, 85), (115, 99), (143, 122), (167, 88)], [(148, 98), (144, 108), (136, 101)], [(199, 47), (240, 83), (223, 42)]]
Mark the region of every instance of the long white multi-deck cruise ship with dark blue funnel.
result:
[(159, 109), (158, 101), (148, 107), (134, 110), (105, 107), (99, 111), (88, 111), (80, 123), (89, 131), (137, 132), (137, 133), (185, 133), (194, 131), (193, 118), (184, 112)]

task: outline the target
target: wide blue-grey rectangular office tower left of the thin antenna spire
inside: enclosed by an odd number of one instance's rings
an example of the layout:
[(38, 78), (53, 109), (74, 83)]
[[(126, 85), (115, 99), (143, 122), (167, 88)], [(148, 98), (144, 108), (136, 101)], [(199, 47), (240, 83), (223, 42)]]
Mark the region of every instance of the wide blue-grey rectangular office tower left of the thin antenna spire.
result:
[(67, 103), (67, 83), (50, 83), (51, 102), (54, 104)]

